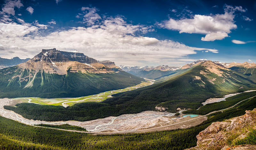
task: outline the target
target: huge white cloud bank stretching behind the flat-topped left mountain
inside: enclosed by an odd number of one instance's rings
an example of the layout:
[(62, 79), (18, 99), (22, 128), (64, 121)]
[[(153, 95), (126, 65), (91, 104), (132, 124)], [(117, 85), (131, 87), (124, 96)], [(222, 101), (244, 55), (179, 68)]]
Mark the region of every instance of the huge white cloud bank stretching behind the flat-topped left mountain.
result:
[[(218, 53), (216, 49), (190, 47), (168, 39), (143, 36), (154, 31), (152, 26), (132, 25), (122, 17), (99, 18), (96, 8), (82, 7), (81, 11), (84, 13), (80, 17), (88, 26), (62, 28), (47, 35), (41, 33), (48, 31), (49, 25), (39, 24), (37, 20), (31, 24), (20, 18), (0, 21), (0, 56), (32, 58), (43, 48), (55, 47), (58, 50), (77, 50), (100, 61), (145, 65), (170, 64), (170, 60), (176, 61), (197, 51)], [(48, 22), (55, 23), (54, 20)]]

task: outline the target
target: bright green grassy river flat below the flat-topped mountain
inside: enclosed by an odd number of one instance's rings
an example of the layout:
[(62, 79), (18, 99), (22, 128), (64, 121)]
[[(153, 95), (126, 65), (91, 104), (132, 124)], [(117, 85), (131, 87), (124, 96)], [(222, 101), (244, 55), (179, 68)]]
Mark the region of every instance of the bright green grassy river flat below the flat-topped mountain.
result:
[(101, 92), (95, 95), (75, 97), (75, 98), (40, 98), (40, 97), (19, 97), (15, 98), (17, 100), (28, 100), (28, 103), (36, 103), (41, 105), (54, 105), (54, 106), (72, 106), (74, 104), (83, 103), (83, 102), (102, 102), (107, 98), (112, 97), (111, 95), (130, 91), (133, 89), (142, 88), (148, 85), (153, 84), (153, 80), (146, 80), (146, 82), (141, 82), (140, 84), (125, 89), (117, 89), (106, 92)]

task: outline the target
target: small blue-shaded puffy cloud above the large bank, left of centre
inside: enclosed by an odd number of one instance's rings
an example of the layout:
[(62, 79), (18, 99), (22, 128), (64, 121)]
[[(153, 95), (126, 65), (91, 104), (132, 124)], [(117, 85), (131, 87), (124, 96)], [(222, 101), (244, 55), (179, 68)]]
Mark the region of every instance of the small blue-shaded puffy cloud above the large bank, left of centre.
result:
[(97, 13), (97, 11), (99, 10), (95, 7), (82, 7), (81, 11), (83, 13), (78, 13), (78, 15), (76, 15), (76, 18), (83, 18), (83, 23), (87, 25), (94, 25), (101, 19), (100, 15)]

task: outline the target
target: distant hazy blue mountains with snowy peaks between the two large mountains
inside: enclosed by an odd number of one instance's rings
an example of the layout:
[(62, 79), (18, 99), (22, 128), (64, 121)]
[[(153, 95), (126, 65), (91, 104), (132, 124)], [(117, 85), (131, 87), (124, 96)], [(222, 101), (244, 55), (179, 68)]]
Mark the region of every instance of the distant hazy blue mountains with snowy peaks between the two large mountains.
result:
[(167, 65), (161, 65), (157, 67), (148, 67), (148, 66), (138, 67), (138, 66), (120, 65), (119, 67), (132, 75), (145, 77), (149, 79), (156, 79), (161, 76), (170, 75), (173, 72), (175, 72), (175, 70), (180, 68), (180, 67), (169, 67)]

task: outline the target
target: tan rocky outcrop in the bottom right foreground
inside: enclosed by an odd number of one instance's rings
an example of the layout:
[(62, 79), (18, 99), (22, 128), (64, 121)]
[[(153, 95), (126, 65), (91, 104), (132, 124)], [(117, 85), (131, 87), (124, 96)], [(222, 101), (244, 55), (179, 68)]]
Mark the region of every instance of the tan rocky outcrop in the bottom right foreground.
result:
[(245, 115), (214, 122), (197, 138), (197, 146), (186, 150), (253, 150), (256, 145), (230, 146), (230, 142), (245, 139), (252, 130), (256, 129), (256, 109), (245, 111)]

